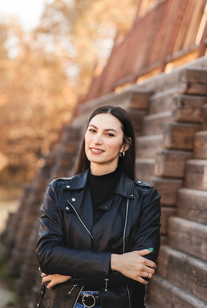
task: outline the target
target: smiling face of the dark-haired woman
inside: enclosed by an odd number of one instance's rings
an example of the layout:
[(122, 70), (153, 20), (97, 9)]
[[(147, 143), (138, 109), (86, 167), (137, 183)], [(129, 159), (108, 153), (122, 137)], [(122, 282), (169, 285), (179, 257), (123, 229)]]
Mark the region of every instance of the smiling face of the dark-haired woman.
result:
[(120, 152), (129, 148), (123, 136), (120, 121), (111, 114), (102, 113), (91, 119), (85, 133), (85, 154), (92, 174), (107, 174), (117, 168)]

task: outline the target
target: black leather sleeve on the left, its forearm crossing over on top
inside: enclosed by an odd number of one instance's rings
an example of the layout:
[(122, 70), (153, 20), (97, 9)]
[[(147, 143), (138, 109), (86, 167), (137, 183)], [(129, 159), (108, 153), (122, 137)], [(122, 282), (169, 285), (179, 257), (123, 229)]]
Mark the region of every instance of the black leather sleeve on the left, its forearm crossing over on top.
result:
[(55, 181), (49, 185), (41, 207), (36, 255), (41, 271), (77, 277), (97, 277), (104, 280), (110, 266), (109, 252), (95, 252), (66, 247), (61, 211), (56, 207)]

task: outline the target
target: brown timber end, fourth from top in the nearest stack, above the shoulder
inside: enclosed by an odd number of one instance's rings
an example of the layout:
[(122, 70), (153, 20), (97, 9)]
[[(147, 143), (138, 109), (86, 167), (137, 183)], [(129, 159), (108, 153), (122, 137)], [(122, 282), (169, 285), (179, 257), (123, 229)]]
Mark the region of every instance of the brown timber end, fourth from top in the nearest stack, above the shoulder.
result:
[(192, 158), (189, 151), (160, 150), (156, 153), (155, 176), (183, 178), (185, 162)]

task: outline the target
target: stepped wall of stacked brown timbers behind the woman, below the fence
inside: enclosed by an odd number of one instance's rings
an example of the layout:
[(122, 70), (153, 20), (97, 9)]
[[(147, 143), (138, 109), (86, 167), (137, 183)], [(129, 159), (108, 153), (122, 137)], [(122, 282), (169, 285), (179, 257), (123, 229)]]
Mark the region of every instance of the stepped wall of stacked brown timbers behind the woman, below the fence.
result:
[(8, 220), (4, 243), (19, 291), (34, 307), (41, 281), (34, 246), (44, 191), (53, 178), (74, 174), (88, 118), (103, 105), (129, 112), (137, 141), (137, 178), (161, 194), (162, 245), (146, 307), (207, 308), (206, 57), (80, 105)]

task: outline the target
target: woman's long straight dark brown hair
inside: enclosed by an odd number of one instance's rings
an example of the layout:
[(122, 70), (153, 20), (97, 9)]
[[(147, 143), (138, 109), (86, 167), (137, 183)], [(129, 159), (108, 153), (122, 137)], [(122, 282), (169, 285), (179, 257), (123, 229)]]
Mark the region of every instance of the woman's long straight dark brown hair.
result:
[[(131, 144), (129, 146), (129, 149), (125, 152), (125, 157), (123, 158), (119, 157), (118, 165), (129, 176), (130, 179), (135, 180), (135, 136), (129, 114), (121, 107), (103, 106), (96, 109), (92, 113), (88, 121), (88, 124), (90, 123), (92, 118), (94, 118), (96, 115), (100, 113), (109, 113), (120, 121), (124, 134), (123, 137), (124, 143), (127, 143), (127, 139), (129, 137), (131, 138)], [(85, 139), (83, 139), (78, 158), (78, 163), (75, 170), (75, 175), (87, 170), (89, 167), (90, 167), (90, 161), (88, 160), (85, 154)]]

